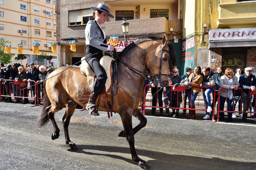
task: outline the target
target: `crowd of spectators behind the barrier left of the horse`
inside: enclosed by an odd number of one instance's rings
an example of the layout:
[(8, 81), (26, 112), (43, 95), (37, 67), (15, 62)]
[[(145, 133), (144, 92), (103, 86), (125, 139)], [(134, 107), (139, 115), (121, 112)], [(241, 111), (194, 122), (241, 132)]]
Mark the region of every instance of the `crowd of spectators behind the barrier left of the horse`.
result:
[[(41, 65), (35, 66), (34, 63), (26, 64), (26, 68), (19, 63), (13, 63), (4, 67), (0, 63), (0, 79), (1, 79), (1, 94), (11, 96), (11, 91), (15, 97), (15, 101), (11, 97), (1, 96), (1, 101), (20, 103), (24, 97), (23, 104), (28, 104), (29, 90), (32, 91), (31, 97), (41, 98), (41, 90), (43, 95), (43, 83), (47, 76), (53, 72), (53, 68), (44, 67)], [(14, 80), (14, 81), (2, 81)], [(35, 83), (38, 84), (38, 93), (36, 93)], [(38, 94), (38, 96), (36, 96)], [(43, 96), (42, 96), (43, 97)], [(37, 104), (37, 101), (31, 103)], [(38, 102), (40, 104), (40, 100)]]

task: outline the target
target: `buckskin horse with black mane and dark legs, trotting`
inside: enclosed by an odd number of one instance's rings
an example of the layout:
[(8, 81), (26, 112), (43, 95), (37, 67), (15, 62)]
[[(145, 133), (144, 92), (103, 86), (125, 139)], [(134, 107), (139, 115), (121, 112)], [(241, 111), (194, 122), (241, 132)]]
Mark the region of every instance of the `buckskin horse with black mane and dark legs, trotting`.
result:
[[(155, 75), (152, 76), (153, 83), (158, 87), (168, 86), (170, 69), (173, 69), (176, 65), (174, 48), (166, 41), (166, 36), (162, 39), (158, 37), (138, 39), (128, 45), (119, 57), (129, 66), (143, 73), (146, 73), (147, 69), (150, 70), (151, 75)], [(45, 84), (43, 110), (38, 118), (37, 125), (42, 127), (50, 119), (54, 129), (51, 138), (53, 140), (57, 139), (60, 130), (54, 120), (54, 113), (60, 111), (66, 105), (66, 112), (62, 118), (65, 142), (71, 149), (75, 150), (77, 146), (69, 139), (68, 126), (77, 104), (85, 107), (90, 90), (87, 78), (80, 73), (79, 68), (67, 68), (60, 67), (48, 76)], [(117, 74), (118, 90), (117, 94), (114, 95), (113, 112), (119, 113), (124, 127), (124, 131), (121, 131), (118, 136), (126, 137), (130, 145), (132, 159), (138, 162), (142, 169), (150, 169), (146, 161), (138, 157), (134, 146), (135, 133), (145, 127), (147, 123), (146, 118), (138, 109), (139, 102), (143, 97), (144, 78), (128, 69), (121, 62), (117, 63)], [(116, 81), (115, 88), (117, 88)], [(107, 98), (111, 103), (111, 92), (107, 92)], [(103, 106), (103, 100), (100, 100), (98, 110), (106, 111)], [(132, 128), (132, 116), (140, 120), (135, 128)]]

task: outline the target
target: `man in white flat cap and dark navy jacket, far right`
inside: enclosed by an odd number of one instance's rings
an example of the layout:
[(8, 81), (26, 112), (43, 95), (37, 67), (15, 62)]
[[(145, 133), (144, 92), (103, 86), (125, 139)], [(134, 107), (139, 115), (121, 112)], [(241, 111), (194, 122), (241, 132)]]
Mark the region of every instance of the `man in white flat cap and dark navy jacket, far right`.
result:
[[(247, 113), (248, 113), (248, 95), (249, 90), (255, 91), (256, 88), (256, 78), (254, 75), (251, 74), (252, 69), (251, 67), (246, 67), (244, 69), (244, 74), (240, 76), (239, 84), (240, 87), (245, 89), (242, 93), (242, 103), (243, 103), (243, 120), (246, 121), (247, 119)], [(251, 101), (249, 101), (251, 102)], [(253, 100), (253, 103), (255, 103), (255, 98)], [(254, 105), (253, 105), (254, 106)]]

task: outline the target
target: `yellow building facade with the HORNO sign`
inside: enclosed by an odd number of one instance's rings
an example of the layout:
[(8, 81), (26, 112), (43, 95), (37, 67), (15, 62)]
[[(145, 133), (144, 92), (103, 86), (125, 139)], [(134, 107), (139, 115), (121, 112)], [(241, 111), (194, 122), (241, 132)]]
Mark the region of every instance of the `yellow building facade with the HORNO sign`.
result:
[(255, 74), (256, 1), (183, 0), (182, 8), (184, 67), (252, 67)]

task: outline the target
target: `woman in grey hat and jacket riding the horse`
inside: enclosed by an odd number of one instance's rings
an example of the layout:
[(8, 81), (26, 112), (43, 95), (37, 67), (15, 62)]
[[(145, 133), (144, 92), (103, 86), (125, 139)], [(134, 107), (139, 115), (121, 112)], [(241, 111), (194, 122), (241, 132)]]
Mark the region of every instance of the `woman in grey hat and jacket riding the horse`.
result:
[(110, 8), (107, 5), (99, 3), (97, 7), (90, 7), (93, 12), (95, 20), (90, 20), (85, 27), (85, 39), (86, 39), (86, 62), (90, 65), (92, 71), (97, 76), (92, 86), (92, 92), (90, 99), (86, 105), (86, 109), (90, 114), (99, 116), (95, 102), (99, 94), (102, 93), (107, 80), (107, 74), (104, 68), (100, 65), (100, 59), (102, 58), (102, 52), (113, 51), (112, 45), (106, 45), (107, 39), (105, 32), (101, 29), (100, 24), (104, 24), (107, 17), (114, 18), (109, 13)]

